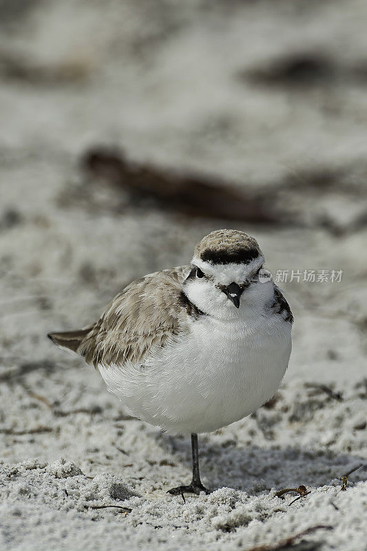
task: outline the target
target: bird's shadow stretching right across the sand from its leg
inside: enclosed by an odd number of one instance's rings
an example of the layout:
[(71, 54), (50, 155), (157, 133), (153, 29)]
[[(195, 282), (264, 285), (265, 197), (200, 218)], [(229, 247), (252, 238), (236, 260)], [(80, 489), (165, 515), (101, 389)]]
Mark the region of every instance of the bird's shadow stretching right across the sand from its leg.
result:
[[(191, 472), (191, 445), (188, 437), (173, 437), (167, 433), (156, 435), (157, 443), (178, 465), (185, 467), (186, 474), (177, 469), (177, 482), (186, 484)], [(366, 479), (367, 464), (362, 457), (335, 453), (328, 448), (307, 450), (291, 446), (261, 448), (255, 444), (244, 446), (235, 441), (222, 443), (202, 437), (200, 449), (200, 472), (205, 486), (211, 490), (229, 487), (243, 490), (251, 495), (276, 488), (297, 488), (331, 485), (335, 479), (362, 465), (350, 475), (350, 481)], [(172, 473), (173, 474), (173, 473)], [(339, 481), (339, 484), (342, 484)]]

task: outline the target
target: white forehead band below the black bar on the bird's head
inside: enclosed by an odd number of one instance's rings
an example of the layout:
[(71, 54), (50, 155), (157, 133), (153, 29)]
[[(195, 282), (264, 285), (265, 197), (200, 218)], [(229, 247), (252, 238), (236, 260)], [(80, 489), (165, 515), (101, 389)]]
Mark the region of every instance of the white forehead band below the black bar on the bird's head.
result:
[(195, 264), (208, 275), (213, 275), (216, 282), (222, 285), (229, 285), (232, 282), (242, 283), (249, 278), (249, 275), (258, 270), (262, 264), (264, 264), (264, 257), (262, 255), (258, 258), (254, 258), (247, 264), (234, 264), (229, 262), (228, 264), (211, 264), (211, 262), (204, 262), (197, 256), (193, 256), (192, 264)]

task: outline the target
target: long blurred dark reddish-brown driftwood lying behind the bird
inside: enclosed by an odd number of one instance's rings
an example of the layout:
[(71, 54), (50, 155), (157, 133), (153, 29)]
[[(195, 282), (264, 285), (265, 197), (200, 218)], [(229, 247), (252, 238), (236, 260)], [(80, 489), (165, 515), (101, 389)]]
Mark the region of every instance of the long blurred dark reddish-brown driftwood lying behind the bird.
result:
[(161, 208), (187, 216), (258, 223), (279, 220), (271, 212), (265, 196), (250, 196), (242, 189), (205, 175), (176, 173), (151, 164), (138, 165), (114, 149), (90, 149), (81, 165), (89, 176), (128, 191), (135, 204), (154, 200)]

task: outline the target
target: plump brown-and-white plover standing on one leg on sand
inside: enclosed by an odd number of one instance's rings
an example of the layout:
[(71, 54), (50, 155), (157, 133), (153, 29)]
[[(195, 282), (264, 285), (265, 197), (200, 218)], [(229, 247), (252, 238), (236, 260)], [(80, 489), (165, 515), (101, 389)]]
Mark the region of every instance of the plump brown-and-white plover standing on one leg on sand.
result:
[(210, 493), (198, 435), (253, 413), (288, 367), (293, 314), (264, 262), (244, 231), (212, 231), (189, 264), (130, 283), (97, 322), (48, 334), (93, 364), (131, 415), (191, 435), (192, 479), (171, 495)]

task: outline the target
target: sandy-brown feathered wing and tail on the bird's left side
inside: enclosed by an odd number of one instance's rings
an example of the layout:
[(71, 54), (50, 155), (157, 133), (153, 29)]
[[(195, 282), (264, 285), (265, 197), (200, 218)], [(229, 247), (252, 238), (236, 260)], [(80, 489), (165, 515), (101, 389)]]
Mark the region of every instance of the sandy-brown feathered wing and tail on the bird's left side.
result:
[(119, 293), (93, 326), (64, 333), (64, 342), (63, 333), (49, 336), (94, 366), (143, 362), (152, 346), (164, 346), (178, 332), (188, 331), (187, 311), (192, 315), (195, 306), (183, 295), (182, 282), (189, 269), (184, 266), (146, 275)]

